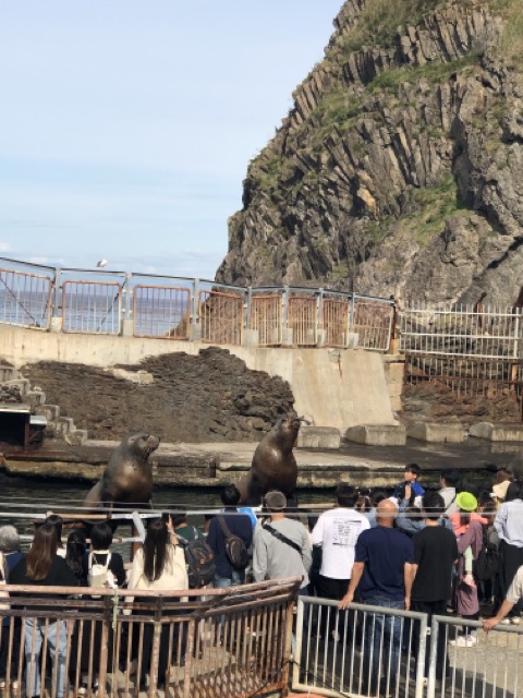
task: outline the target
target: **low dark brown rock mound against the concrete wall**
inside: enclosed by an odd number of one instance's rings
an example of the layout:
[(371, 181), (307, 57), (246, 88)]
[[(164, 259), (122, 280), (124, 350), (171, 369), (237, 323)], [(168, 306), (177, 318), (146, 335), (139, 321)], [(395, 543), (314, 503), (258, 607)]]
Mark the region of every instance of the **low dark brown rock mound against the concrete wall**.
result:
[(89, 438), (98, 440), (145, 430), (162, 442), (259, 441), (294, 401), (288, 383), (250, 371), (218, 348), (119, 368), (145, 371), (153, 381), (139, 384), (101, 369), (59, 362), (28, 364), (22, 373)]

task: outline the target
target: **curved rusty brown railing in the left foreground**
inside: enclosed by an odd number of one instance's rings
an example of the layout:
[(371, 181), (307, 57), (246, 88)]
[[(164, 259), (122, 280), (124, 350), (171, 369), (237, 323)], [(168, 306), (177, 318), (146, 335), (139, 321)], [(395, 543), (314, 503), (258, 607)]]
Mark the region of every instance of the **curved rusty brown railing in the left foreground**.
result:
[[(187, 592), (5, 587), (7, 690), (76, 698), (287, 689), (297, 578)], [(66, 601), (64, 601), (66, 599)]]

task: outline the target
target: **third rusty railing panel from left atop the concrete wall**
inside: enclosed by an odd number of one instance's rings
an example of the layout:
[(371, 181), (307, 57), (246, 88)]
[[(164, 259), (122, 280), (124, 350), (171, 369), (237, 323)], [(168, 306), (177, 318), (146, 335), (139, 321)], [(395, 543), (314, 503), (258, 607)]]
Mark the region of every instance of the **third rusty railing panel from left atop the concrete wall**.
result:
[(188, 339), (191, 289), (172, 286), (135, 286), (135, 337)]

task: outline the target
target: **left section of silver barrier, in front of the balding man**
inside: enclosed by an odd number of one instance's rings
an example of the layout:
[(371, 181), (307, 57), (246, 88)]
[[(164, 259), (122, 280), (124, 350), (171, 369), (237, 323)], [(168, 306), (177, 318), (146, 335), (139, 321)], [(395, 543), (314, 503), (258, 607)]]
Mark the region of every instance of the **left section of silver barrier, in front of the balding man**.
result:
[(292, 688), (422, 698), (426, 629), (423, 613), (299, 597)]

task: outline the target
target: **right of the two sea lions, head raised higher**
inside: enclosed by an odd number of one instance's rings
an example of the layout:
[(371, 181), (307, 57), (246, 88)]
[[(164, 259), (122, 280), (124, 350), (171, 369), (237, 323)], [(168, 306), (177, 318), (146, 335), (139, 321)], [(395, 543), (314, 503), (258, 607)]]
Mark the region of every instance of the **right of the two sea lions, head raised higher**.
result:
[(289, 412), (259, 442), (251, 471), (238, 485), (242, 504), (260, 504), (264, 494), (271, 489), (281, 490), (287, 497), (294, 495), (297, 466), (292, 449), (302, 421), (295, 412)]

